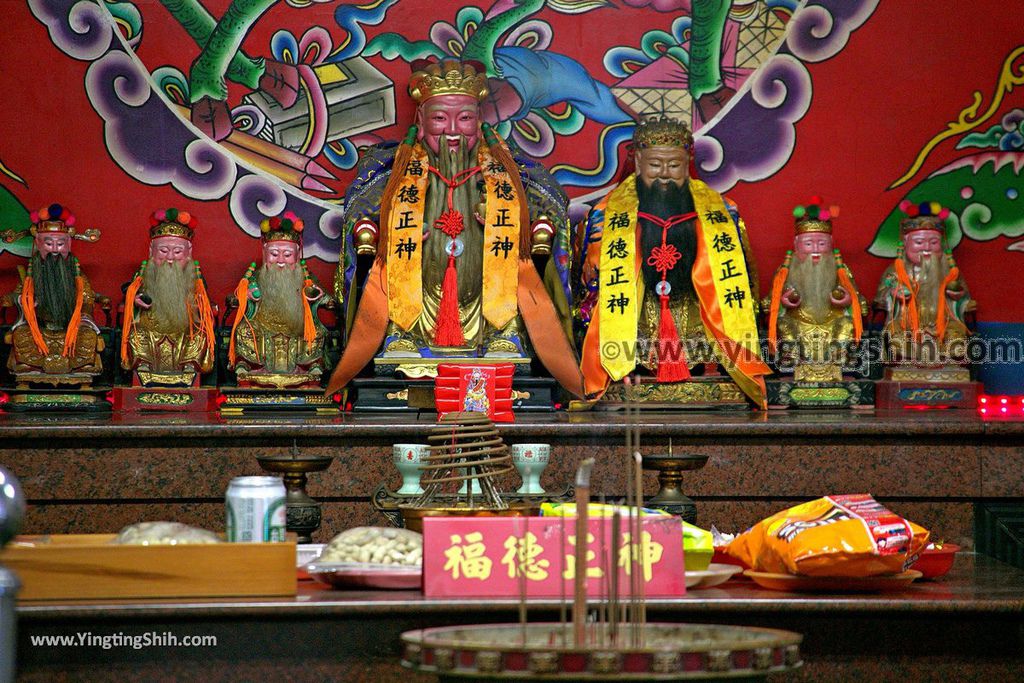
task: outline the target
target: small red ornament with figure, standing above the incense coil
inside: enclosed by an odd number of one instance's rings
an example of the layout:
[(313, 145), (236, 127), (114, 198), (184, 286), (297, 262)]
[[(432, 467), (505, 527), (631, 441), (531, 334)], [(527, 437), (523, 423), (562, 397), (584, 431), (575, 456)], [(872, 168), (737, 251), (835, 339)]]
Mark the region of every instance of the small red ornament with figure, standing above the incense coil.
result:
[(486, 413), (494, 422), (512, 422), (511, 364), (441, 364), (434, 381), (437, 419), (447, 413)]

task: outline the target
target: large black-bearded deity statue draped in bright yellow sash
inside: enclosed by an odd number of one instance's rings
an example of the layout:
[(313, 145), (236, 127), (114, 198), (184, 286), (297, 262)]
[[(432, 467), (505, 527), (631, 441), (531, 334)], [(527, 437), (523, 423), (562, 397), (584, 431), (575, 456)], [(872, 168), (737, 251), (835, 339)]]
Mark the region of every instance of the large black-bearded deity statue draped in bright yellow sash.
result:
[(598, 283), (583, 348), (588, 396), (632, 373), (673, 384), (689, 381), (691, 371), (713, 376), (721, 365), (764, 405), (770, 371), (759, 349), (757, 274), (735, 206), (691, 177), (685, 124), (642, 122), (633, 147), (636, 173), (587, 224), (583, 278)]

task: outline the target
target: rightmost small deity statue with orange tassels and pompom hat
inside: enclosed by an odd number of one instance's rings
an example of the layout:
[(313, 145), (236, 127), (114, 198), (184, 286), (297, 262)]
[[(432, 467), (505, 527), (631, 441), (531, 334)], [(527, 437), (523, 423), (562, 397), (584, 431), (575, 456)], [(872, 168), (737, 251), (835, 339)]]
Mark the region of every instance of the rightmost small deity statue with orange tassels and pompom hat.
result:
[(904, 201), (900, 246), (879, 284), (874, 304), (886, 314), (890, 359), (925, 366), (967, 361), (965, 318), (976, 307), (946, 248), (949, 209)]

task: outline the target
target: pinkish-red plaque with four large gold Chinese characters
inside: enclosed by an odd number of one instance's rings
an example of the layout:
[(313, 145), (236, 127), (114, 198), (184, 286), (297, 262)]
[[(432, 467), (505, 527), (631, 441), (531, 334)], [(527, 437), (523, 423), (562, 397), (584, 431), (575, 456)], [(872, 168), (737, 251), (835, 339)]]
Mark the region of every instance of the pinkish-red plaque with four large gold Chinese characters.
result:
[[(613, 557), (611, 519), (590, 520), (587, 593), (607, 597), (612, 567), (618, 595), (630, 595), (634, 564), (627, 518)], [(678, 517), (644, 517), (637, 566), (643, 595), (675, 598), (686, 593), (683, 532)], [(423, 520), (423, 593), (427, 597), (572, 598), (575, 577), (574, 517), (426, 517)], [(640, 552), (642, 551), (642, 552)]]

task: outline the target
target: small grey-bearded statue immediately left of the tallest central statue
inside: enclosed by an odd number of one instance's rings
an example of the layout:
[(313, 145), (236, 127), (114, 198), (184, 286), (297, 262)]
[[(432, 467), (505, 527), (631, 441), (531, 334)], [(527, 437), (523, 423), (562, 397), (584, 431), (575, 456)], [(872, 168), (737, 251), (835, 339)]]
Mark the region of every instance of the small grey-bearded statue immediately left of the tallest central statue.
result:
[(306, 269), (303, 227), (291, 211), (260, 222), (263, 263), (236, 288), (228, 364), (239, 386), (319, 387), (327, 329), (316, 309), (331, 298)]

